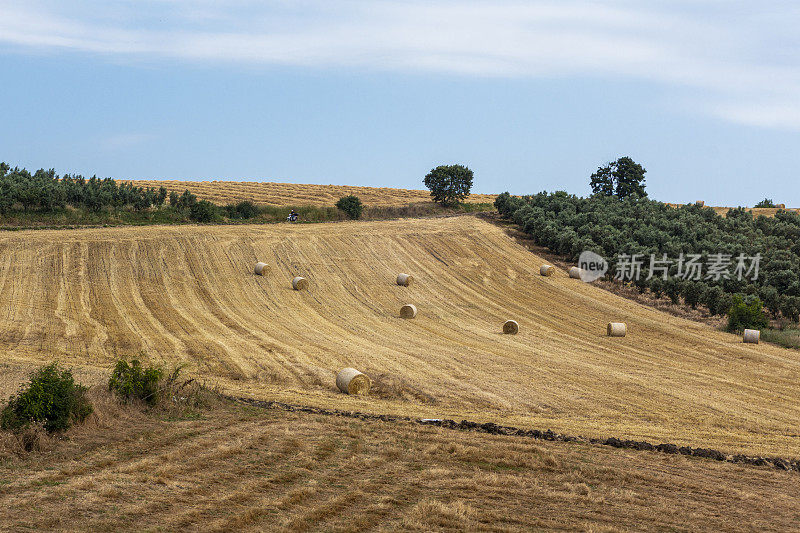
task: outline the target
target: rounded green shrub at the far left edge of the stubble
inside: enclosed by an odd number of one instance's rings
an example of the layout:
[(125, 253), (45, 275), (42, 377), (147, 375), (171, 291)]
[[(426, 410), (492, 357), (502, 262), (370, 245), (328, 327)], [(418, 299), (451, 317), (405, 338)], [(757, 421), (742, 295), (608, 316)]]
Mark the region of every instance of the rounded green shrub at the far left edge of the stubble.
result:
[(52, 433), (82, 422), (92, 411), (86, 387), (75, 383), (71, 370), (50, 363), (31, 374), (30, 382), (9, 399), (0, 415), (0, 426), (20, 430), (39, 423)]

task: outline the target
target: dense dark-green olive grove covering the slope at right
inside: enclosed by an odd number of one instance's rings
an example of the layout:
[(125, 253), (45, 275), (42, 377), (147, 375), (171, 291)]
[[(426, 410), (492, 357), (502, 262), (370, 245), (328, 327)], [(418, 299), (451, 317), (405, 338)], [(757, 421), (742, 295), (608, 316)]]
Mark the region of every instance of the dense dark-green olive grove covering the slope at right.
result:
[[(600, 191), (598, 191), (600, 192)], [(778, 211), (774, 218), (753, 217), (744, 208), (730, 209), (725, 217), (700, 205), (678, 208), (637, 193), (619, 198), (603, 190), (589, 198), (559, 191), (514, 197), (498, 196), (501, 215), (520, 225), (534, 241), (576, 260), (589, 250), (609, 263), (606, 277), (618, 275), (621, 262), (641, 259), (641, 272), (633, 283), (641, 292), (667, 296), (673, 303), (693, 308), (703, 305), (712, 315), (723, 315), (733, 303), (756, 300), (773, 318), (798, 321), (800, 317), (800, 216)], [(643, 192), (643, 191), (642, 191)], [(684, 279), (673, 262), (656, 270), (650, 258), (687, 258), (711, 264), (719, 257), (760, 257), (756, 279), (752, 273), (704, 273)], [(752, 261), (751, 261), (752, 263)], [(627, 265), (630, 266), (630, 265)], [(749, 265), (752, 266), (752, 265)], [(653, 271), (651, 272), (651, 267)], [(719, 274), (719, 272), (717, 273)], [(666, 279), (665, 279), (666, 278)]]

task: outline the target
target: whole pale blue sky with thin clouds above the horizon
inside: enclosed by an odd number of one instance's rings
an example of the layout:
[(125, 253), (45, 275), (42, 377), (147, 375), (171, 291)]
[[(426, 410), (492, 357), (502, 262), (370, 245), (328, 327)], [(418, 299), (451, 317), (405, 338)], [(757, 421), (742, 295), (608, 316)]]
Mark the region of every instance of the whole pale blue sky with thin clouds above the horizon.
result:
[(800, 206), (800, 3), (0, 0), (0, 160)]

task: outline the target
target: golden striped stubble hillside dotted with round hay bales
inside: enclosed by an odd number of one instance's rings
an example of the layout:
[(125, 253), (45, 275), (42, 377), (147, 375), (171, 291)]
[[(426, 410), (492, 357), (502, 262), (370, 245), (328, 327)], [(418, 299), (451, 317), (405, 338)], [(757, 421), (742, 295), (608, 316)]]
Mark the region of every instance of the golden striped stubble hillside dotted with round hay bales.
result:
[[(144, 352), (242, 396), (800, 456), (798, 352), (543, 277), (476, 217), (26, 231), (0, 249), (12, 367), (107, 375)], [(294, 291), (294, 276), (313, 283)], [(414, 320), (398, 316), (408, 302)], [(508, 317), (518, 335), (498, 327)], [(369, 396), (337, 390), (345, 367)]]

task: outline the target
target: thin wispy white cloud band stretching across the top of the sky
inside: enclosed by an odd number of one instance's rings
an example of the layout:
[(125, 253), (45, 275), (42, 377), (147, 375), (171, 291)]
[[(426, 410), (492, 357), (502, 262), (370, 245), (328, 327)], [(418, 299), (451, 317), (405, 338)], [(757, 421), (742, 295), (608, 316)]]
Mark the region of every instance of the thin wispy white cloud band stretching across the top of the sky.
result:
[(699, 111), (725, 120), (800, 129), (800, 9), (793, 2), (0, 0), (0, 19), (0, 43), (22, 48), (645, 80), (693, 91)]

